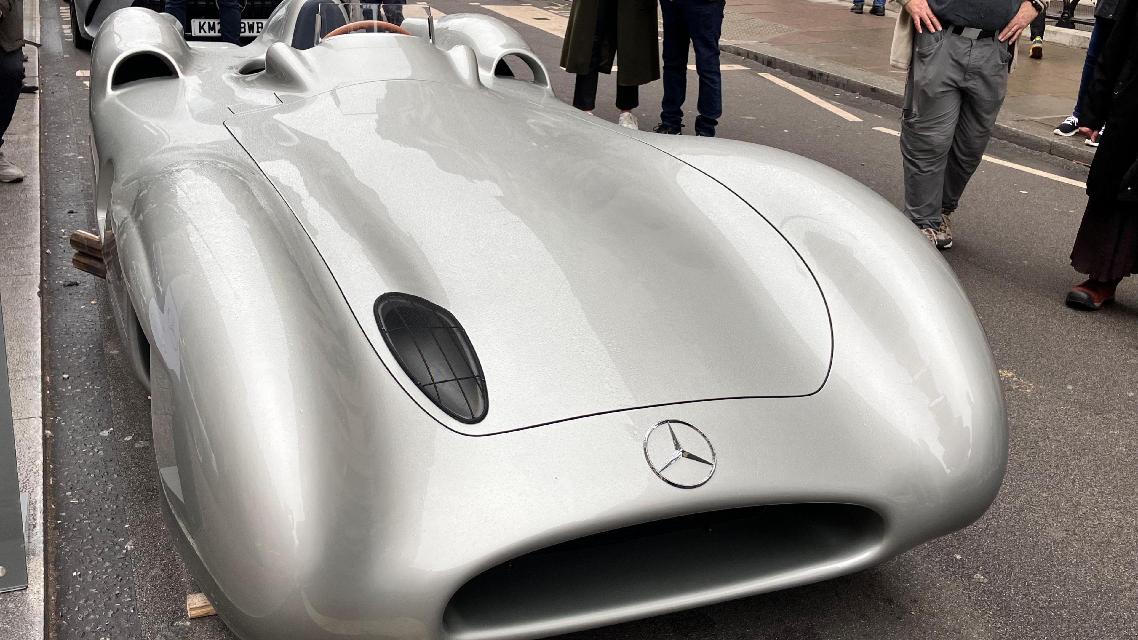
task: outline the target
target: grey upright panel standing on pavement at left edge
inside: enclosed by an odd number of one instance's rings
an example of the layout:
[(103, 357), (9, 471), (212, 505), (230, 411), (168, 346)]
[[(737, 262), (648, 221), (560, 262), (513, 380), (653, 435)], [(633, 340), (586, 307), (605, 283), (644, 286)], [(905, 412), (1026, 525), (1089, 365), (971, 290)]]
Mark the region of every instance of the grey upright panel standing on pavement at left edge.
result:
[(8, 351), (0, 305), (0, 593), (27, 589), (27, 498), (19, 493), (11, 424)]

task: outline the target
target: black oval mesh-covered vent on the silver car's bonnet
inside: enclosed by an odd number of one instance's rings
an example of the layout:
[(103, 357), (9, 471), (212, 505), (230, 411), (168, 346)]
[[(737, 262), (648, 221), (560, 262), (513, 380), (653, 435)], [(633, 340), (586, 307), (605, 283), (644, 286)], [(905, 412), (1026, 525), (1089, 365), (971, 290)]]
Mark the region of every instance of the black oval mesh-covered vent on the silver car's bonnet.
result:
[(411, 294), (384, 294), (376, 322), (399, 367), (439, 409), (467, 424), (486, 417), (483, 368), (450, 311)]

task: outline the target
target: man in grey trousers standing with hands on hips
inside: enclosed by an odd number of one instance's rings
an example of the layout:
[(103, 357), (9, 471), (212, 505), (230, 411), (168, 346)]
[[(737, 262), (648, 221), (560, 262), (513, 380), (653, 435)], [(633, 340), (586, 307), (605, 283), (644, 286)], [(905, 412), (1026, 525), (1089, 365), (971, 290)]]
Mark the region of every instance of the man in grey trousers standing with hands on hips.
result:
[[(939, 249), (980, 165), (1042, 0), (905, 0), (890, 64), (909, 72), (901, 109), (905, 215)], [(907, 38), (906, 38), (907, 36)]]

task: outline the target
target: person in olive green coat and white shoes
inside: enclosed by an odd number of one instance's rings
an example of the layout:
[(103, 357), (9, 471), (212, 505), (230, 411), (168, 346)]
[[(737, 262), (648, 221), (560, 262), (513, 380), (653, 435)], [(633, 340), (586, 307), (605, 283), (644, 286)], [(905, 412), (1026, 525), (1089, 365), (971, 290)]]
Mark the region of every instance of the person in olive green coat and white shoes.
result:
[(660, 49), (653, 0), (576, 0), (569, 11), (561, 66), (577, 74), (572, 106), (585, 113), (596, 108), (599, 73), (617, 65), (618, 123), (640, 129), (633, 109), (640, 106), (640, 85), (660, 77)]

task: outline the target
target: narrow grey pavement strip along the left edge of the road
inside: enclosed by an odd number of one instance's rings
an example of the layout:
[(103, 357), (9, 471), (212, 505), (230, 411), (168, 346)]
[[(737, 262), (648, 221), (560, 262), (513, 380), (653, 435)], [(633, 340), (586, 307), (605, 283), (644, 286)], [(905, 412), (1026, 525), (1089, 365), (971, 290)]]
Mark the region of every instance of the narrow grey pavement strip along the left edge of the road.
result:
[[(24, 34), (40, 38), (40, 3), (24, 2)], [(40, 57), (27, 54), (26, 84), (39, 84)], [(43, 359), (40, 288), (40, 95), (22, 93), (5, 136), (5, 155), (24, 170), (23, 182), (0, 184), (0, 301), (11, 389), (19, 490), (28, 497), (27, 581), (23, 591), (0, 594), (0, 638), (44, 638), (43, 553)]]

